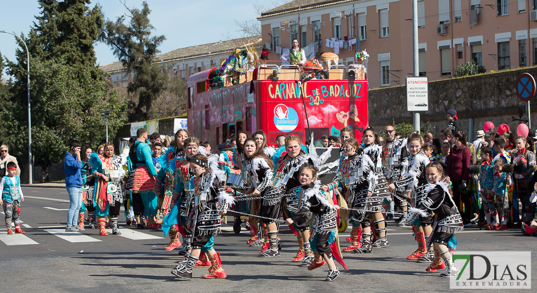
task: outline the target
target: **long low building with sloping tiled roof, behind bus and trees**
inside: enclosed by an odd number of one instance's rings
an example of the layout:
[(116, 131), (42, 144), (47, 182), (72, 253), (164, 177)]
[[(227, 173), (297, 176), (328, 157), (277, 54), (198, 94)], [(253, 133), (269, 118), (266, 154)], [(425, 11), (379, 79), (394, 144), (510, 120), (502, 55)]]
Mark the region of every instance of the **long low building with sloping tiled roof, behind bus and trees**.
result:
[[(175, 49), (168, 53), (157, 55), (155, 60), (162, 66), (170, 67), (171, 78), (186, 81), (194, 73), (219, 67), (221, 62), (236, 48), (244, 48), (244, 46), (259, 48), (260, 44), (261, 37), (257, 35), (255, 37)], [(114, 87), (119, 87), (132, 80), (133, 74), (126, 73), (122, 62), (113, 62), (100, 68), (110, 74), (108, 80), (114, 83)]]

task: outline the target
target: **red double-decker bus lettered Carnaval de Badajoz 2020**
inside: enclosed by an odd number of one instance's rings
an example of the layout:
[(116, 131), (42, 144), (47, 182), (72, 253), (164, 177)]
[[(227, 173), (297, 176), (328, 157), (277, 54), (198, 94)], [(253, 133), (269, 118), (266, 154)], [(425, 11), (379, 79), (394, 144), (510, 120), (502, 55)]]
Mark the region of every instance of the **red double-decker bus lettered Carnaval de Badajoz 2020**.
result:
[[(223, 144), (240, 131), (263, 130), (270, 145), (279, 134), (297, 135), (302, 142), (321, 135), (339, 135), (346, 126), (360, 140), (368, 125), (367, 80), (358, 67), (332, 66), (328, 79), (300, 83), (296, 66), (256, 67), (219, 87), (216, 68), (196, 73), (187, 81), (188, 131), (211, 145)], [(309, 122), (309, 130), (308, 123)]]

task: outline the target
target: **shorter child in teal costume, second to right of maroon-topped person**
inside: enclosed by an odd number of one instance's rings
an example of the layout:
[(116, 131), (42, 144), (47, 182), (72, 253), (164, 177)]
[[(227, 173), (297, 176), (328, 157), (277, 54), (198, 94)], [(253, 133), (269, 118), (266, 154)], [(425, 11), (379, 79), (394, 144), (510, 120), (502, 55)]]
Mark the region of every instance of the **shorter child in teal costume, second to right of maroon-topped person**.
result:
[[(496, 213), (500, 213), (502, 218), (494, 226), (493, 230), (507, 230), (507, 219), (509, 219), (509, 195), (507, 194), (507, 180), (511, 175), (504, 171), (506, 167), (504, 160), (494, 161), (494, 183), (492, 185), (492, 194), (496, 198)], [(500, 224), (501, 223), (501, 224)]]

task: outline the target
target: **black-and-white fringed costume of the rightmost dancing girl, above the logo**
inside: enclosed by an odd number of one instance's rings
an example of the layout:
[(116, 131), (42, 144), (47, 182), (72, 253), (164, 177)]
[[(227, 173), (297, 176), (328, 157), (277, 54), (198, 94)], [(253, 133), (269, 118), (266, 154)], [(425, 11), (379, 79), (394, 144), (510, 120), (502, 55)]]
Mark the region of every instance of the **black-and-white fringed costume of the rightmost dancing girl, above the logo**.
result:
[[(447, 245), (453, 234), (463, 230), (461, 215), (449, 193), (449, 183), (445, 180), (437, 181), (436, 184), (427, 186), (425, 191), (425, 196), (418, 202), (416, 208), (409, 211), (403, 221), (412, 223), (417, 217), (427, 216), (433, 211), (437, 215), (437, 223), (433, 227), (433, 237), (430, 239), (432, 242)], [(431, 243), (427, 245), (429, 247)]]

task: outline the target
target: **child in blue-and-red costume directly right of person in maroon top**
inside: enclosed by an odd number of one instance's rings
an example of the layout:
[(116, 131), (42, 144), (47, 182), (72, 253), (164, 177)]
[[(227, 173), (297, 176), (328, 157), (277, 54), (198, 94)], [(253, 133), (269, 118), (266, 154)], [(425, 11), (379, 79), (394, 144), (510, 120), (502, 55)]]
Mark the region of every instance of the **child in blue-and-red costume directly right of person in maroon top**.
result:
[[(487, 228), (490, 229), (491, 216), (495, 217), (495, 224), (498, 223), (498, 213), (494, 209), (494, 197), (492, 196), (492, 184), (494, 183), (494, 166), (492, 165), (492, 151), (490, 148), (481, 149), (481, 168), (479, 176), (474, 178), (479, 180), (481, 186), (481, 198), (483, 202), (483, 211), (487, 220)], [(491, 213), (492, 212), (492, 213)]]

